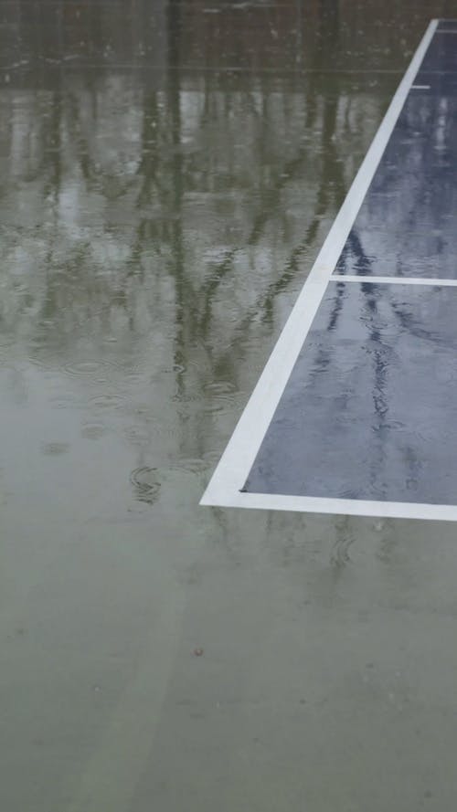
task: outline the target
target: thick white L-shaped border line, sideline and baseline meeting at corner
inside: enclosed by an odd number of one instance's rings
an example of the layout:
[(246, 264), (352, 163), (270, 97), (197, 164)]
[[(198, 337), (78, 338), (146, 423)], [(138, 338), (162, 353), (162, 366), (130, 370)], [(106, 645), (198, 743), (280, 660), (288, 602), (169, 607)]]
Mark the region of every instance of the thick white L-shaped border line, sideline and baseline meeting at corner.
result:
[[(218, 467), (200, 501), (202, 505), (416, 518), (450, 518), (448, 514), (451, 511), (452, 518), (457, 519), (457, 507), (441, 508), (436, 505), (412, 503), (314, 499), (239, 492), (248, 478), (260, 444), (270, 426), (271, 418), (281, 399), (293, 365), (314, 321), (315, 313), (324, 298), (336, 262), (367, 194), (368, 186), (377, 170), (377, 165), (382, 158), (438, 23), (438, 20), (431, 20), (409, 63), (409, 68), (401, 79), (399, 88), (371, 142), (345, 202), (335, 217), (335, 222), (293, 306), (291, 315), (260, 375), (260, 380), (219, 460)], [(365, 281), (365, 277), (361, 281)], [(443, 516), (443, 511), (446, 516)]]

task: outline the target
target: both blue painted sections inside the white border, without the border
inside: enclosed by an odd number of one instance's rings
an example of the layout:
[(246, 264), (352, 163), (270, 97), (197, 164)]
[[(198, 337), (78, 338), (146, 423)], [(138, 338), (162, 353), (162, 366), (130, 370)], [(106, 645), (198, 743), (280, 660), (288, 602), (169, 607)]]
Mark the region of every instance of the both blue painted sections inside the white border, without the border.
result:
[(415, 84), (247, 492), (457, 505), (457, 287), (369, 280), (457, 279), (457, 36)]

